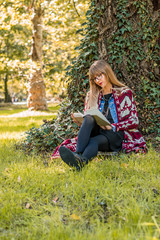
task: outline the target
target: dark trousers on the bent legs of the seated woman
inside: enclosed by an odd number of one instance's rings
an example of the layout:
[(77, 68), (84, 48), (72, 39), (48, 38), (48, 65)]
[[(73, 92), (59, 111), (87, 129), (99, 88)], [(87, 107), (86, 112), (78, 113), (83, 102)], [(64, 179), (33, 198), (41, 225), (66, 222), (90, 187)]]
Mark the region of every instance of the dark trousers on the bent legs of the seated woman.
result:
[(101, 129), (93, 116), (86, 115), (79, 130), (76, 152), (87, 160), (97, 156), (98, 151), (115, 151), (122, 149), (123, 132)]

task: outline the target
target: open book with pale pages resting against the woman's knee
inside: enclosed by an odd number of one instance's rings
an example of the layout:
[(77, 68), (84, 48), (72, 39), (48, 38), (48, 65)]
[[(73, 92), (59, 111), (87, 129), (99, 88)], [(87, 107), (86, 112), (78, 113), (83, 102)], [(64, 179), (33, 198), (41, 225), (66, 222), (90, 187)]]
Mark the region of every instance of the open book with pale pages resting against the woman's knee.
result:
[(78, 122), (82, 123), (84, 116), (86, 116), (88, 114), (92, 115), (95, 118), (95, 120), (99, 126), (106, 126), (106, 125), (111, 126), (111, 123), (97, 108), (91, 108), (89, 110), (86, 110), (85, 114), (82, 114), (80, 112), (73, 113), (73, 116), (75, 117), (75, 119)]

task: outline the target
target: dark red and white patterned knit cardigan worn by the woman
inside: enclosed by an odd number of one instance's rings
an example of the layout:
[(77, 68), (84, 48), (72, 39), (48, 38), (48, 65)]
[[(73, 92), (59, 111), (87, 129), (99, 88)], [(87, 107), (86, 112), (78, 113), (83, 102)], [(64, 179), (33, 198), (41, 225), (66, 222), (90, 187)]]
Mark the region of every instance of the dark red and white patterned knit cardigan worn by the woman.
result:
[[(100, 92), (98, 97), (98, 107), (102, 99)], [(133, 98), (132, 91), (128, 88), (113, 89), (113, 97), (117, 110), (118, 123), (113, 123), (116, 131), (124, 131), (124, 140), (122, 143), (122, 151), (129, 153), (146, 152), (146, 143), (137, 127), (139, 124), (138, 113)], [(85, 103), (86, 106), (86, 103)], [(71, 151), (75, 152), (77, 138), (67, 139), (60, 146), (66, 146)], [(52, 158), (59, 157), (59, 147), (54, 151)]]

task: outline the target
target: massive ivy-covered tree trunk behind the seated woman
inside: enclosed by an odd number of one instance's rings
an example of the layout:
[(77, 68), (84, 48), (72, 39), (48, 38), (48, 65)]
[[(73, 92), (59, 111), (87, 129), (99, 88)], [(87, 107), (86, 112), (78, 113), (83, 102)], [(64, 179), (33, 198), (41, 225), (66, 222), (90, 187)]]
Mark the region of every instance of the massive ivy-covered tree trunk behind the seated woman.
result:
[(89, 89), (88, 70), (97, 59), (105, 59), (117, 78), (134, 91), (140, 129), (144, 133), (160, 132), (158, 23), (157, 1), (91, 1), (87, 21), (80, 30), (83, 39), (77, 47), (79, 56), (67, 68), (68, 98), (56, 121), (41, 127), (48, 127), (45, 144), (48, 142), (50, 150), (67, 137), (77, 135), (70, 114), (83, 109)]

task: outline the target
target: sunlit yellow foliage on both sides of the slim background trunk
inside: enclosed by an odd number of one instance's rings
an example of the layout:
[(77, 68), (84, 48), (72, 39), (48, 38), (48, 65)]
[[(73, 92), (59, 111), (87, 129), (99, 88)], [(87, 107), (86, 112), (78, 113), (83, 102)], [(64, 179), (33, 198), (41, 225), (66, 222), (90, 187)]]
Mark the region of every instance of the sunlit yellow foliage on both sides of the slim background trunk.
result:
[[(53, 98), (58, 94), (66, 94), (65, 68), (71, 59), (78, 54), (75, 50), (82, 36), (76, 33), (80, 25), (85, 21), (85, 13), (88, 8), (88, 0), (73, 1), (48, 0), (40, 1), (43, 9), (43, 79), (46, 85), (47, 98)], [(35, 6), (38, 2), (34, 1)], [(33, 5), (28, 0), (1, 1), (1, 78), (0, 85), (4, 90), (4, 63), (10, 68), (8, 77), (9, 92), (12, 96), (21, 100), (26, 98), (29, 81), (32, 74), (32, 63), (29, 52), (32, 47), (32, 13)], [(4, 13), (4, 14), (3, 14)], [(5, 16), (5, 17), (4, 17)], [(10, 18), (8, 18), (8, 16)], [(6, 18), (8, 21), (6, 22)], [(12, 33), (10, 44), (10, 58), (6, 56), (4, 37), (5, 26)], [(14, 29), (14, 31), (13, 31)], [(6, 34), (6, 33), (4, 33)], [(9, 37), (11, 40), (11, 37)], [(16, 51), (15, 47), (17, 46)], [(33, 48), (32, 48), (33, 49)], [(19, 51), (18, 51), (19, 50)], [(2, 54), (3, 52), (3, 54)], [(12, 56), (11, 56), (12, 53)], [(16, 54), (17, 53), (17, 54)], [(18, 55), (19, 54), (19, 55)], [(2, 74), (3, 73), (3, 74)], [(2, 94), (2, 90), (0, 94)]]

